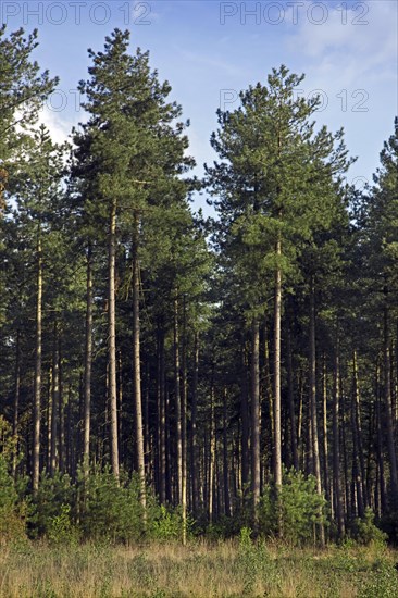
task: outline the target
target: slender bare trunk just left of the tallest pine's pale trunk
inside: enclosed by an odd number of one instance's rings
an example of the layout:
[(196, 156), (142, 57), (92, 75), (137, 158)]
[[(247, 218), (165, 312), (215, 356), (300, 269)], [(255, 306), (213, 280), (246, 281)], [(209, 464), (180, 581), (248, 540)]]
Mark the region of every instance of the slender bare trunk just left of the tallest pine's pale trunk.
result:
[(85, 476), (88, 475), (90, 463), (90, 423), (91, 423), (91, 363), (92, 363), (92, 249), (87, 249), (87, 282), (86, 282), (86, 347), (85, 347), (85, 379), (84, 379), (84, 443), (83, 463)]

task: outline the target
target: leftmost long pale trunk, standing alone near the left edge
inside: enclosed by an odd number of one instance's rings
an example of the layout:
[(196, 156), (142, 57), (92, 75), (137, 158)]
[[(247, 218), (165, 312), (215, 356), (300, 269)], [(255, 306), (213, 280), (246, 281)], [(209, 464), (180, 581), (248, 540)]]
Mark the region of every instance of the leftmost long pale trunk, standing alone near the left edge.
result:
[(32, 485), (34, 494), (39, 488), (40, 476), (40, 423), (41, 423), (41, 302), (42, 302), (42, 254), (39, 232), (37, 242), (37, 295), (36, 295), (36, 358), (35, 358), (35, 399), (34, 435), (32, 456)]

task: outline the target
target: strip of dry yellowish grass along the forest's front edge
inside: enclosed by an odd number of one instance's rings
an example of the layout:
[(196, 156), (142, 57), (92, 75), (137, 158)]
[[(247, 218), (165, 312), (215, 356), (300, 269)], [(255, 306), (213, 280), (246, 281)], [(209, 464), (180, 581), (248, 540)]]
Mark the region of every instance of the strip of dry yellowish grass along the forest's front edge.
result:
[(276, 543), (0, 548), (7, 598), (398, 597), (398, 552), (381, 545), (320, 551)]

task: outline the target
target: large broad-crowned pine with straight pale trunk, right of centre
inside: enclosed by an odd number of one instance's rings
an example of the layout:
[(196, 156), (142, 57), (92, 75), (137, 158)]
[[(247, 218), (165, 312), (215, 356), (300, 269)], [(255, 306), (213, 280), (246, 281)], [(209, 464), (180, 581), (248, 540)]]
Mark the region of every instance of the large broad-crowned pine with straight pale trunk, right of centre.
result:
[[(332, 135), (323, 127), (314, 134), (310, 117), (318, 100), (294, 98), (302, 78), (289, 74), (285, 66), (273, 70), (268, 86), (259, 83), (240, 92), (241, 105), (237, 110), (219, 110), (220, 129), (212, 136), (212, 146), (222, 162), (207, 169), (213, 194), (219, 195), (214, 201), (221, 220), (219, 242), (229, 250), (234, 241), (227, 236), (235, 238), (239, 262), (251, 262), (250, 272), (257, 271), (257, 277), (249, 278), (251, 310), (263, 313), (266, 301), (254, 281), (262, 278), (270, 286), (273, 277), (276, 488), (282, 485), (284, 278), (291, 277), (300, 246), (311, 240), (316, 228), (327, 226), (335, 197), (334, 179), (348, 167), (343, 132)], [(248, 248), (253, 251), (251, 257), (248, 257)], [(254, 256), (259, 256), (256, 262)], [(258, 298), (253, 302), (251, 296), (256, 291)]]

